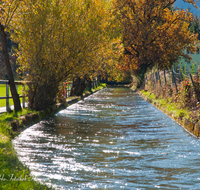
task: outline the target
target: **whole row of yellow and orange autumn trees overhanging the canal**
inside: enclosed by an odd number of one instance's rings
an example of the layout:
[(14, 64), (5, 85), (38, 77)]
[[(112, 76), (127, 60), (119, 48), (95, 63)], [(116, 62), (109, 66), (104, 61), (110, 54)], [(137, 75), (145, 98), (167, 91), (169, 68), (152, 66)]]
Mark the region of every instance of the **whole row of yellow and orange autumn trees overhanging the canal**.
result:
[[(197, 35), (188, 30), (193, 16), (175, 10), (176, 0), (2, 0), (1, 40), (6, 66), (6, 31), (18, 44), (19, 71), (29, 86), (29, 107), (55, 103), (66, 78), (115, 78), (129, 71), (141, 84), (148, 68), (169, 68), (184, 57)], [(187, 0), (195, 6), (195, 0)], [(14, 79), (7, 68), (11, 92)], [(15, 99), (15, 98), (14, 98)]]

